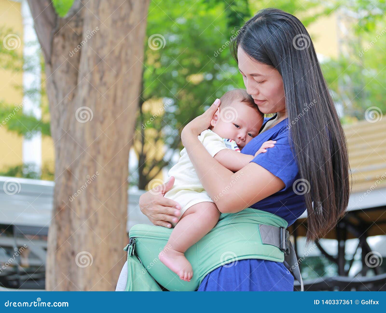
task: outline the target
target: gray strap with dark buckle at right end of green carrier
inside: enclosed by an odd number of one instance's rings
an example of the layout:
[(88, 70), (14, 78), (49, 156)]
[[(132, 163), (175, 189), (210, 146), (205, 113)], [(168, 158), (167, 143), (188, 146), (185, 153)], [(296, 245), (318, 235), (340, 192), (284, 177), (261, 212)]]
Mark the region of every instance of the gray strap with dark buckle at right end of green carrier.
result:
[[(283, 246), (281, 245), (281, 238), (285, 238), (286, 236), (283, 236), (283, 233), (287, 233), (287, 231), (284, 229), (284, 232), (282, 228), (259, 224), (259, 231), (263, 244), (274, 245), (275, 247), (282, 249)], [(301, 279), (298, 258), (296, 257), (295, 249), (293, 249), (293, 245), (291, 240), (289, 240), (289, 237), (286, 239), (285, 247), (288, 249), (288, 254), (284, 252), (284, 264), (288, 264), (287, 268), (290, 270), (290, 272), (292, 272), (293, 276), (300, 283), (301, 291), (304, 291), (303, 279)]]

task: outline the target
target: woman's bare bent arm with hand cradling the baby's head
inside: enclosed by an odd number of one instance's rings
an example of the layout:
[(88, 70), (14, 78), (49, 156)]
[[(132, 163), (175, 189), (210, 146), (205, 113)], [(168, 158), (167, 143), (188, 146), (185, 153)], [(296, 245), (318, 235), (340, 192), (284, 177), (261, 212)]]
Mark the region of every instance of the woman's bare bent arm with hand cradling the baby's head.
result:
[(181, 133), (183, 145), (195, 167), (198, 178), (222, 213), (235, 213), (284, 188), (284, 182), (264, 167), (249, 163), (236, 173), (210, 156), (198, 135), (210, 125), (220, 100), (185, 126)]

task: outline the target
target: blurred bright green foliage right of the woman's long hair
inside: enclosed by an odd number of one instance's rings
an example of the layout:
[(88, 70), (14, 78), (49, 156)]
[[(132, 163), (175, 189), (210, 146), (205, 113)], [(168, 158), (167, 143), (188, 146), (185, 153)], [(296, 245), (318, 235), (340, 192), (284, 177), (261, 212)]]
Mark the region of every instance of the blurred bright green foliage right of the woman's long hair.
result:
[[(347, 6), (345, 6), (347, 5)], [(342, 38), (339, 58), (329, 59), (322, 70), (334, 101), (344, 107), (342, 122), (354, 118), (362, 120), (369, 107), (378, 107), (386, 113), (386, 27), (384, 25), (384, 0), (356, 0), (343, 3), (341, 14), (353, 17), (350, 31)]]

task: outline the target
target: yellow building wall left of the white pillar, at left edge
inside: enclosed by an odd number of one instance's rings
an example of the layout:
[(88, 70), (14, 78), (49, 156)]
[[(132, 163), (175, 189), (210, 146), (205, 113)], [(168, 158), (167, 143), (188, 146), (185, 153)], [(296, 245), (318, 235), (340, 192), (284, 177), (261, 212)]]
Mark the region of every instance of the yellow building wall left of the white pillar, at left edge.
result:
[[(20, 2), (0, 0), (0, 27), (12, 29), (12, 32), (20, 37), (21, 46), (15, 51), (22, 54), (23, 21), (20, 11)], [(3, 44), (3, 42), (0, 42), (0, 44)], [(22, 86), (22, 83), (22, 71), (13, 73), (0, 67), (0, 101), (12, 106), (15, 103), (20, 104), (23, 101), (23, 95), (15, 86)], [(22, 163), (22, 142), (22, 136), (8, 132), (4, 126), (0, 128), (0, 170)]]

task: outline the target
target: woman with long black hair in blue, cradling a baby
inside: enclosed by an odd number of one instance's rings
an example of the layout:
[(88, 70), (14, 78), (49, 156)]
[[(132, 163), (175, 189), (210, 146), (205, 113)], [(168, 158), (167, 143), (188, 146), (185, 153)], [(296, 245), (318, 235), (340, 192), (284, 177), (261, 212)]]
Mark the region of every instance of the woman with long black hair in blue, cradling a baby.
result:
[[(218, 198), (220, 212), (258, 208), (291, 225), (307, 210), (307, 242), (318, 239), (347, 207), (349, 162), (344, 132), (308, 32), (293, 15), (269, 8), (240, 29), (231, 51), (261, 112), (276, 113), (264, 119), (259, 135), (241, 152), (254, 155), (267, 140), (276, 140), (275, 146), (237, 173), (218, 163), (197, 138), (209, 127), (218, 100), (186, 125), (183, 145), (203, 187), (212, 199)], [(240, 177), (237, 183), (232, 184), (232, 176)], [(163, 197), (173, 183), (172, 178), (163, 193), (151, 191), (140, 198), (142, 213), (155, 225), (171, 227), (179, 214), (179, 204)], [(224, 190), (226, 195), (219, 196)], [(293, 276), (283, 263), (246, 259), (213, 270), (198, 290), (293, 291)]]

